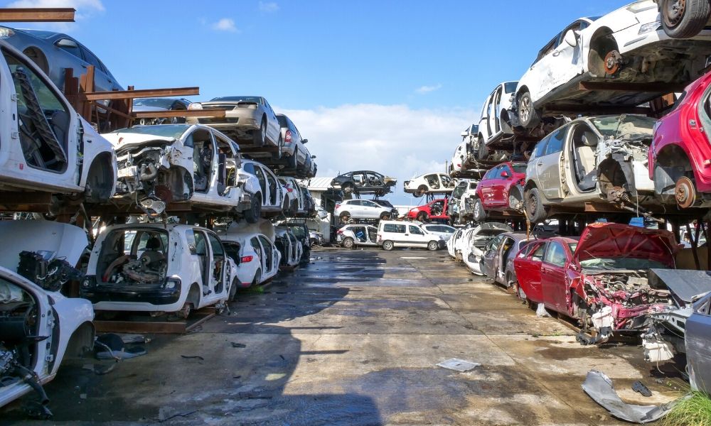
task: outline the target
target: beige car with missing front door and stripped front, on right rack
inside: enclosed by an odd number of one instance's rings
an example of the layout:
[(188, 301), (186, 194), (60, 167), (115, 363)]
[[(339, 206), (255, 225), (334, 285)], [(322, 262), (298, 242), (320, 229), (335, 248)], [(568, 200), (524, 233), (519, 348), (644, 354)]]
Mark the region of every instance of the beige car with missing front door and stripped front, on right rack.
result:
[(587, 203), (632, 212), (657, 205), (647, 170), (655, 122), (626, 114), (582, 117), (543, 138), (526, 168), (528, 219), (542, 222), (552, 208), (579, 209)]

